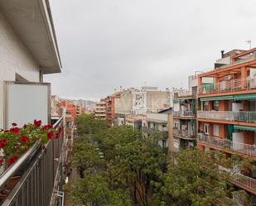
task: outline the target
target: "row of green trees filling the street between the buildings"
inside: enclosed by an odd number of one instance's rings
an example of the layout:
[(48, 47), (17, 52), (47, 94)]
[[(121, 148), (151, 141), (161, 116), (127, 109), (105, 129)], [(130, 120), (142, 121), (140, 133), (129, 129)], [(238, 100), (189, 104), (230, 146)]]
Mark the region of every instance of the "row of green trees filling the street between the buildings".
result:
[[(131, 127), (106, 128), (92, 115), (77, 121), (79, 138), (72, 150), (72, 166), (81, 178), (66, 186), (73, 204), (85, 205), (232, 205), (232, 170), (242, 166), (238, 156), (185, 150), (165, 154), (157, 144), (159, 133), (145, 137)], [(104, 158), (103, 158), (104, 157)]]

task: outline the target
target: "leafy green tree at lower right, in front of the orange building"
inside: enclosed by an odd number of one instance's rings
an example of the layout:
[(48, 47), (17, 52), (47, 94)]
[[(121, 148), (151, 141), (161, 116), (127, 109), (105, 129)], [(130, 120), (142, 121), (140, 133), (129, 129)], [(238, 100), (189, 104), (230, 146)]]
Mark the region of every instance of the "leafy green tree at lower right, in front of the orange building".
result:
[(218, 155), (198, 150), (174, 153), (167, 173), (158, 174), (160, 181), (154, 183), (157, 205), (221, 205), (226, 181), (232, 177), (218, 172), (217, 166), (221, 165)]

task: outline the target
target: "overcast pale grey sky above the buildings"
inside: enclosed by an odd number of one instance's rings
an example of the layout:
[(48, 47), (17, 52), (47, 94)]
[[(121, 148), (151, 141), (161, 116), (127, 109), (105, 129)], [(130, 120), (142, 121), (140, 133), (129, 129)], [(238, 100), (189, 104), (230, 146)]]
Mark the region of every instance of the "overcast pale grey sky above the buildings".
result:
[(50, 0), (62, 61), (52, 94), (98, 101), (120, 87), (186, 87), (220, 50), (256, 46), (255, 0)]

